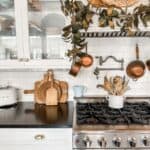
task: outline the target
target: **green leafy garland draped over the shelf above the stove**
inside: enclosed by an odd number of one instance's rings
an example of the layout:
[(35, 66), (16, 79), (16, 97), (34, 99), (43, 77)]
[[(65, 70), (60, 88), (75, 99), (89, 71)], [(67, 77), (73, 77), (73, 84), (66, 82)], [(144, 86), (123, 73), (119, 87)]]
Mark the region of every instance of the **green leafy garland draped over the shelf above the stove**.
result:
[(65, 16), (71, 19), (70, 25), (64, 27), (64, 41), (70, 42), (73, 46), (68, 50), (69, 58), (76, 58), (86, 46), (86, 39), (81, 36), (81, 30), (85, 32), (92, 24), (94, 15), (99, 16), (99, 27), (120, 27), (122, 32), (133, 35), (134, 31), (139, 30), (139, 22), (145, 27), (150, 22), (150, 5), (140, 5), (136, 7), (132, 13), (128, 13), (127, 9), (116, 8), (114, 6), (93, 8), (89, 3), (85, 5), (78, 0), (60, 0), (61, 9)]

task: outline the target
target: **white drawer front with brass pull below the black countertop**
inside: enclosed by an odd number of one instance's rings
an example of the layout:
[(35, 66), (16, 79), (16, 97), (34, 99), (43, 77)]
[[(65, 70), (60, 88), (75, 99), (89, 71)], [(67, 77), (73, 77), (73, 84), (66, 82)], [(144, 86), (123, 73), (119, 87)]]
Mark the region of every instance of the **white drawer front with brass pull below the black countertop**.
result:
[(0, 145), (72, 145), (71, 129), (0, 129)]

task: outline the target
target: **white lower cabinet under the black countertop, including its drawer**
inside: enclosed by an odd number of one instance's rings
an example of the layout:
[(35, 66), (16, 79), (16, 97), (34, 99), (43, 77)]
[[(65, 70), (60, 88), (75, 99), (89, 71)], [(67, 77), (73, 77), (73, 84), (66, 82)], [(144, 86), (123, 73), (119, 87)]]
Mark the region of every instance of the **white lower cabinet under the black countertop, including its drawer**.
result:
[(71, 150), (72, 129), (0, 129), (2, 150)]

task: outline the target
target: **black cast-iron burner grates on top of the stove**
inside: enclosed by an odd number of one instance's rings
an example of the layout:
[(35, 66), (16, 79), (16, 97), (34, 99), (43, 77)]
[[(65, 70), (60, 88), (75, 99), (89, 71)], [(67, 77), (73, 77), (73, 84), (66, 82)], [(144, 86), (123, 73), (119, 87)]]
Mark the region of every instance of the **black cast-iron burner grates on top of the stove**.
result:
[(126, 102), (122, 109), (112, 109), (107, 102), (76, 105), (78, 125), (150, 125), (150, 104)]

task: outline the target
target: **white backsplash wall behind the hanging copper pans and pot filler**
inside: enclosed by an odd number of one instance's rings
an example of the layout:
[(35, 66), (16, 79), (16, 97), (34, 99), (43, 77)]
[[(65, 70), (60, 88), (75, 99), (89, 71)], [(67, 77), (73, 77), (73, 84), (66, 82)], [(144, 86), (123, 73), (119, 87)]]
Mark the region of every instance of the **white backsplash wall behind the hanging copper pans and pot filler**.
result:
[[(143, 61), (150, 59), (150, 39), (149, 38), (101, 38), (101, 39), (88, 39), (89, 46), (88, 51), (94, 56), (114, 55), (117, 58), (124, 58), (125, 65), (135, 59), (135, 44), (139, 44), (140, 58)], [(88, 69), (82, 68), (77, 77), (72, 77), (67, 71), (55, 71), (55, 77), (59, 80), (66, 80), (69, 82), (70, 98), (72, 100), (73, 85), (86, 85), (88, 90), (86, 95), (104, 95), (102, 89), (97, 89), (96, 85), (102, 83), (105, 74), (110, 75), (124, 75), (124, 71), (105, 71), (100, 72), (100, 79), (97, 80), (93, 71), (98, 65), (98, 61), (95, 60), (94, 65)], [(109, 61), (107, 67), (113, 67), (114, 64)], [(44, 72), (1, 72), (0, 82), (5, 83), (9, 81), (12, 86), (20, 89), (21, 101), (33, 101), (32, 95), (22, 94), (24, 89), (32, 89), (34, 82), (40, 80), (43, 77)], [(126, 93), (127, 95), (150, 95), (150, 72), (146, 71), (144, 77), (134, 82), (130, 80), (131, 90)]]

